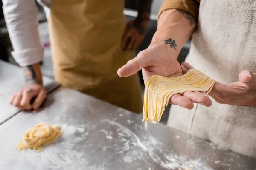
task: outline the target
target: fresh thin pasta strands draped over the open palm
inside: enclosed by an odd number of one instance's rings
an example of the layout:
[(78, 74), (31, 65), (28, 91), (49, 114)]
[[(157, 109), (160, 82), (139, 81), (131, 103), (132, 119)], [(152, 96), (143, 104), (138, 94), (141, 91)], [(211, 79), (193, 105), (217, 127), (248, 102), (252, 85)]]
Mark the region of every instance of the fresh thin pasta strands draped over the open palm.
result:
[(185, 91), (208, 91), (209, 93), (214, 83), (214, 80), (196, 69), (191, 69), (179, 77), (167, 78), (157, 75), (149, 77), (145, 83), (144, 94), (142, 121), (145, 121), (145, 127), (148, 122), (160, 121), (172, 95)]

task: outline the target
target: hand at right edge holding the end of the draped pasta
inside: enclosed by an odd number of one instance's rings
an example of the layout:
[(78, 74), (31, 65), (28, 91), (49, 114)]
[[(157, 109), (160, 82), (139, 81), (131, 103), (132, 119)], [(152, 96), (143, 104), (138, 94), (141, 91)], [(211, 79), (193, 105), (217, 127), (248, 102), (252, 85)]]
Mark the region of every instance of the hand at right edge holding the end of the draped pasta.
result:
[[(189, 70), (192, 66), (186, 63), (184, 68)], [(237, 82), (215, 82), (209, 95), (218, 103), (256, 107), (256, 73), (245, 70), (239, 74)]]

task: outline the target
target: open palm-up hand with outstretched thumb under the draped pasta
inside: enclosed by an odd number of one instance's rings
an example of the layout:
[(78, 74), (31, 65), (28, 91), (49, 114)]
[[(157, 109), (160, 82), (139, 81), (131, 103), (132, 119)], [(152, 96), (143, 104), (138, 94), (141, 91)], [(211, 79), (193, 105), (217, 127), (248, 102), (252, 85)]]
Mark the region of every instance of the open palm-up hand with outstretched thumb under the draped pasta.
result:
[[(164, 77), (175, 77), (183, 75), (177, 57), (168, 51), (166, 46), (154, 44), (141, 51), (137, 57), (128, 61), (126, 65), (119, 68), (117, 74), (120, 77), (128, 77), (142, 69), (144, 82), (152, 75)], [(169, 103), (192, 109), (194, 103), (201, 103), (205, 106), (212, 105), (207, 94), (201, 92), (186, 91), (183, 94), (175, 94)]]

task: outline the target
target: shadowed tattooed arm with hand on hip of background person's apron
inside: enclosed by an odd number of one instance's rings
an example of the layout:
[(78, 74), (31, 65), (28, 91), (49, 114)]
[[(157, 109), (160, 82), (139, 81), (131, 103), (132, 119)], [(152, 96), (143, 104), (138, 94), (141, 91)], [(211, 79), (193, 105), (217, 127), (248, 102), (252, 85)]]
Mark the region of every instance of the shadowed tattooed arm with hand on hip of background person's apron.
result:
[(148, 30), (152, 0), (139, 0), (138, 16), (128, 21), (126, 31), (122, 37), (123, 50), (135, 50), (143, 41)]

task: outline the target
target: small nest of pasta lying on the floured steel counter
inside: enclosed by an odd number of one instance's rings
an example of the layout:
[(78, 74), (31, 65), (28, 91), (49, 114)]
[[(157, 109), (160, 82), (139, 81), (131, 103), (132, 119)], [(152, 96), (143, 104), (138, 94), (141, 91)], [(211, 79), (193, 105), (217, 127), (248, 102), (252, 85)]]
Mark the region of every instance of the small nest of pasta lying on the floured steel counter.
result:
[(54, 142), (63, 131), (57, 125), (40, 123), (23, 134), (17, 150), (34, 149), (41, 152), (44, 145)]

